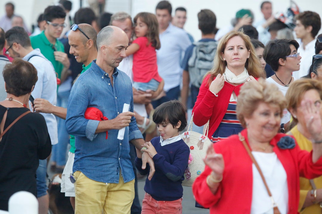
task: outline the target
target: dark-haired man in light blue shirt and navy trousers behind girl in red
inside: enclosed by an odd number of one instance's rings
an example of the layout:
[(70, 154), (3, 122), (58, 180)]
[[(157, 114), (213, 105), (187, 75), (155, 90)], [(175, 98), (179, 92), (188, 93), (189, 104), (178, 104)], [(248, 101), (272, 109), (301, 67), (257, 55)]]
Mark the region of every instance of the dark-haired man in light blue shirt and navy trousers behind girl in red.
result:
[(161, 48), (156, 51), (159, 75), (164, 80), (166, 96), (152, 102), (154, 108), (161, 103), (178, 99), (183, 69), (180, 61), (191, 41), (186, 32), (171, 24), (172, 6), (168, 1), (156, 5), (156, 18), (159, 23)]

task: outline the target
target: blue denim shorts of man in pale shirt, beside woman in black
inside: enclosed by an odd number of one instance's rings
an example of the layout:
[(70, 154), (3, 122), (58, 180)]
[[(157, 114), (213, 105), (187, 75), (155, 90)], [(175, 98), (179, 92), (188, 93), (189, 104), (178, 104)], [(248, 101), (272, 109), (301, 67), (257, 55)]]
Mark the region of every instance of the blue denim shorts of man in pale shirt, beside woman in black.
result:
[(39, 166), (36, 171), (36, 181), (37, 181), (37, 198), (40, 198), (47, 194), (47, 159), (39, 160)]

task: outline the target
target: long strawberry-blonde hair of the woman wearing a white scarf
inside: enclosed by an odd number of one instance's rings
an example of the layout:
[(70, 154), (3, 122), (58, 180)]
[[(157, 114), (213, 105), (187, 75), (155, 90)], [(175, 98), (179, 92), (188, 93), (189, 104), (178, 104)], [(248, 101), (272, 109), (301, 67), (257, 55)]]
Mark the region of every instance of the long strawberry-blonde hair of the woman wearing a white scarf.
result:
[(216, 77), (219, 73), (225, 73), (227, 62), (223, 60), (222, 53), (224, 53), (225, 51), (225, 47), (227, 45), (228, 40), (235, 36), (241, 37), (242, 40), (244, 40), (245, 42), (247, 50), (250, 50), (251, 52), (249, 58), (246, 60), (245, 63), (245, 68), (247, 69), (249, 75), (253, 77), (266, 78), (266, 74), (263, 72), (263, 69), (261, 68), (260, 61), (256, 55), (255, 48), (252, 45), (249, 36), (244, 34), (242, 31), (231, 31), (220, 39), (215, 58), (213, 59), (213, 68), (205, 75), (207, 76), (208, 74), (210, 74), (210, 78), (208, 80), (209, 86), (213, 81), (214, 77)]

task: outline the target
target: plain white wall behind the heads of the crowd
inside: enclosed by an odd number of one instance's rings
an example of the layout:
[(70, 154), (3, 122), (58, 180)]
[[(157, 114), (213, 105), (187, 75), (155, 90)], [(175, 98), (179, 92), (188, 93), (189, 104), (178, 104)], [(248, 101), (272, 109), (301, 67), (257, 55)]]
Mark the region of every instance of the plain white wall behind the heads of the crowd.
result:
[[(40, 13), (50, 4), (55, 4), (58, 0), (9, 0), (15, 5), (15, 13), (22, 15), (27, 26), (36, 22)], [(82, 6), (88, 6), (87, 0), (71, 0), (73, 2), (71, 15), (79, 9), (80, 1)], [(270, 0), (273, 4), (273, 12), (285, 12), (290, 6), (289, 0)], [(6, 0), (1, 0), (0, 16), (5, 14)], [(125, 11), (133, 17), (139, 12), (155, 13), (155, 7), (159, 0), (107, 0), (105, 11), (115, 13)], [(195, 40), (200, 39), (198, 30), (197, 13), (201, 9), (212, 10), (217, 17), (217, 28), (229, 25), (236, 12), (242, 8), (251, 9), (255, 15), (255, 21), (262, 19), (260, 4), (262, 0), (170, 0), (174, 10), (178, 6), (184, 6), (187, 13), (185, 30), (190, 32)], [(295, 0), (301, 11), (311, 10), (317, 12), (322, 17), (321, 0)], [(320, 31), (322, 32), (322, 30)]]

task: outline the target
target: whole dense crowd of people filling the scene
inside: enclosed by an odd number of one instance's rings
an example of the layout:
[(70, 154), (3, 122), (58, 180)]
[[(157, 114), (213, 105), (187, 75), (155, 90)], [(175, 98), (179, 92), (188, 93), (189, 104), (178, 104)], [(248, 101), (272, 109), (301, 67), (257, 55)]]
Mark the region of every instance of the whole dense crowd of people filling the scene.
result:
[[(213, 145), (192, 190), (210, 213), (321, 213), (320, 16), (260, 5), (216, 28), (160, 1), (155, 13), (46, 7), (29, 32), (14, 4), (0, 21), (0, 210), (33, 193), (59, 211), (47, 170), (61, 174), (74, 213), (184, 213), (191, 120)], [(195, 160), (196, 161), (196, 160)], [(49, 162), (51, 165), (49, 165)], [(21, 176), (24, 175), (24, 176)], [(147, 176), (138, 199), (138, 176)], [(19, 184), (19, 185), (17, 185)], [(239, 200), (236, 200), (238, 198)], [(53, 204), (52, 204), (53, 203)], [(233, 206), (232, 206), (233, 204)]]

